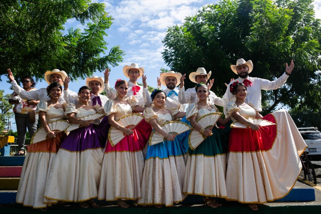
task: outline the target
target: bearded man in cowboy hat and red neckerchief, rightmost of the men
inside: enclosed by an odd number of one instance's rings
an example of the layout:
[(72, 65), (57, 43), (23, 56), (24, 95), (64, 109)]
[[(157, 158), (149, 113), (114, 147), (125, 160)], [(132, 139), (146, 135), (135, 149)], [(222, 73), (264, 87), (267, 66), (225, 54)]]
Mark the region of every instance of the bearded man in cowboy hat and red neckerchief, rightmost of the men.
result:
[(244, 59), (238, 59), (236, 65), (231, 65), (231, 69), (234, 73), (239, 75), (239, 78), (231, 81), (226, 89), (226, 92), (221, 99), (222, 104), (225, 106), (233, 98), (232, 93), (230, 92), (230, 84), (235, 81), (239, 81), (245, 84), (247, 87), (247, 98), (246, 103), (252, 103), (258, 111), (262, 111), (261, 106), (261, 90), (275, 90), (280, 88), (290, 76), (294, 68), (293, 60), (291, 61), (290, 66), (285, 64), (285, 72), (277, 80), (269, 81), (257, 77), (249, 77), (248, 74), (253, 70), (253, 63), (251, 60), (247, 62)]

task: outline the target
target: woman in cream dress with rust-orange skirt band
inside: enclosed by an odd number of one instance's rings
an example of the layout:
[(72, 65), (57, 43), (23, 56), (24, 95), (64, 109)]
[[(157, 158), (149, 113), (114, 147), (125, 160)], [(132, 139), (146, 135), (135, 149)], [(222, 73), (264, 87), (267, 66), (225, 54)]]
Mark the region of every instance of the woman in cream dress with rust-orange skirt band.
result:
[(58, 102), (62, 87), (53, 82), (47, 87), (50, 100), (41, 100), (37, 105), (41, 126), (48, 134), (48, 139), (29, 146), (23, 163), (16, 202), (24, 206), (47, 210), (44, 199), (45, 185), (50, 168), (56, 157), (61, 142), (65, 139), (64, 132), (55, 133), (50, 130), (48, 122), (64, 118), (65, 106)]

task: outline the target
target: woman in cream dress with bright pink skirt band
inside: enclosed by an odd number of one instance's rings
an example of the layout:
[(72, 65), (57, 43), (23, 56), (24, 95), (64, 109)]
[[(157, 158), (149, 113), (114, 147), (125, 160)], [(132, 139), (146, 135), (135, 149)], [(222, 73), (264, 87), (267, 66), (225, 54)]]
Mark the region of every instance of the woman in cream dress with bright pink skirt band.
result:
[(112, 146), (108, 135), (98, 199), (117, 201), (119, 207), (128, 208), (125, 200), (137, 200), (141, 197), (140, 182), (144, 168), (142, 150), (152, 127), (143, 120), (131, 130), (116, 122), (133, 112), (143, 112), (145, 108), (138, 105), (134, 96), (126, 98), (128, 84), (125, 80), (117, 80), (115, 88), (116, 98), (108, 100), (104, 108), (109, 124), (122, 131), (125, 137)]

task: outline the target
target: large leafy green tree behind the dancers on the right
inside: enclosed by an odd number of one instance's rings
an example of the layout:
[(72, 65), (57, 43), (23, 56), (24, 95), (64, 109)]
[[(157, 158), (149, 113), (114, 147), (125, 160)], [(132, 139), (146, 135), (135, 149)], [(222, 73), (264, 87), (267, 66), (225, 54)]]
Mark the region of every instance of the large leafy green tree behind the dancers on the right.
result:
[[(321, 28), (312, 0), (222, 0), (207, 5), (182, 26), (170, 27), (162, 53), (174, 71), (204, 67), (215, 78), (212, 90), (222, 96), (223, 84), (237, 78), (230, 69), (239, 58), (251, 59), (252, 77), (275, 80), (294, 60), (295, 68), (278, 90), (262, 91), (263, 114), (277, 106), (317, 109), (321, 102)], [(186, 88), (193, 87), (188, 78)]]

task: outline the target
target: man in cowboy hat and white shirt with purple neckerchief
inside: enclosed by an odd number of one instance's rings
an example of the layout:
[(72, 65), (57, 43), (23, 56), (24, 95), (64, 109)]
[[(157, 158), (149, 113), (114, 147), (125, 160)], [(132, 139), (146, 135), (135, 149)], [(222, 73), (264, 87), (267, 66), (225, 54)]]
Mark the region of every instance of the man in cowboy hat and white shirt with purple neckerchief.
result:
[[(108, 100), (105, 95), (100, 94), (105, 89), (104, 79), (98, 76), (87, 77), (86, 86), (91, 88), (90, 105), (95, 106), (99, 104), (100, 106), (104, 106)], [(77, 98), (70, 100), (70, 102), (76, 104), (78, 102)], [(66, 95), (65, 100), (68, 102)]]

